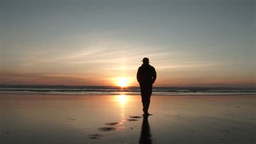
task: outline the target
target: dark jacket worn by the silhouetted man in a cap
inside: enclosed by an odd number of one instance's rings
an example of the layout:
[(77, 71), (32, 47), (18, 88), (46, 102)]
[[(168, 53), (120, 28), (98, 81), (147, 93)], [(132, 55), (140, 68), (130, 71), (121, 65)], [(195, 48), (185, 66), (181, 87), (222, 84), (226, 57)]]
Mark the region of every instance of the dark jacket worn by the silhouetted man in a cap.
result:
[(153, 66), (143, 64), (137, 72), (137, 80), (139, 85), (152, 85), (157, 78), (157, 72)]

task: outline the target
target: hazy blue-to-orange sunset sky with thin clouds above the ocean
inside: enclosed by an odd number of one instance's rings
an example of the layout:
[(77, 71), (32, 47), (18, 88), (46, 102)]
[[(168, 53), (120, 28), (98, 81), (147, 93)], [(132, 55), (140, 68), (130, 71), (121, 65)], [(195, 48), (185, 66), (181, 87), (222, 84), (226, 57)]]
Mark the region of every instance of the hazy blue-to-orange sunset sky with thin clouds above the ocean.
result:
[(255, 1), (0, 1), (0, 84), (256, 87)]

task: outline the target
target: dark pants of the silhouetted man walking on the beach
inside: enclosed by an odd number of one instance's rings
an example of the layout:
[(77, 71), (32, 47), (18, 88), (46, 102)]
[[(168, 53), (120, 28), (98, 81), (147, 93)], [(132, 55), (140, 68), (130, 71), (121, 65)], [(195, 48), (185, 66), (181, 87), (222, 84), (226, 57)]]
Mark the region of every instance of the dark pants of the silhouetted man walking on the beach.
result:
[(152, 84), (140, 85), (140, 93), (142, 95), (143, 112), (147, 113), (150, 105), (150, 97), (152, 94)]

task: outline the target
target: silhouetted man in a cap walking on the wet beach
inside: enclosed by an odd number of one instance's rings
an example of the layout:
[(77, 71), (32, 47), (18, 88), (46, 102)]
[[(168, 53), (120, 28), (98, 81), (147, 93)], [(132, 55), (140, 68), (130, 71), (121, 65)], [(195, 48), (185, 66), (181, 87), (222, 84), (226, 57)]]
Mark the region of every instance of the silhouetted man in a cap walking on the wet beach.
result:
[(150, 97), (152, 94), (152, 85), (157, 78), (157, 72), (153, 66), (149, 64), (148, 58), (143, 58), (143, 64), (139, 67), (137, 72), (137, 80), (140, 86), (140, 93), (142, 95), (142, 104), (144, 115), (149, 115), (148, 109), (150, 105)]

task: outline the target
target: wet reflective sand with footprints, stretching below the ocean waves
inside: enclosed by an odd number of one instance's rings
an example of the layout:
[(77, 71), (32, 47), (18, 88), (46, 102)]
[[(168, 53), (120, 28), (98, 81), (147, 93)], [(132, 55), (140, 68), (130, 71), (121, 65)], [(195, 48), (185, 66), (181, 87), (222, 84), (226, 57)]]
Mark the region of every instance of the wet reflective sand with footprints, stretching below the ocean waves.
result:
[(0, 94), (0, 143), (255, 143), (255, 95)]

